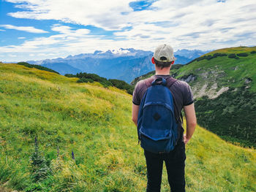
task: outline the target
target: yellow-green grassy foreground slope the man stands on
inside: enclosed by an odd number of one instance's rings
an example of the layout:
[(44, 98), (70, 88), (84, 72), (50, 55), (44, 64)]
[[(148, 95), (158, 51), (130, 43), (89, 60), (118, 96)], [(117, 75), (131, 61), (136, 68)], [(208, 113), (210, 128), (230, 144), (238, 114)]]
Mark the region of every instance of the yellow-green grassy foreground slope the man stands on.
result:
[[(131, 96), (76, 80), (0, 64), (0, 183), (23, 191), (145, 191)], [(39, 185), (29, 174), (36, 135), (52, 169)], [(255, 191), (255, 158), (255, 150), (197, 126), (187, 145), (187, 191)], [(165, 173), (162, 191), (168, 191)]]

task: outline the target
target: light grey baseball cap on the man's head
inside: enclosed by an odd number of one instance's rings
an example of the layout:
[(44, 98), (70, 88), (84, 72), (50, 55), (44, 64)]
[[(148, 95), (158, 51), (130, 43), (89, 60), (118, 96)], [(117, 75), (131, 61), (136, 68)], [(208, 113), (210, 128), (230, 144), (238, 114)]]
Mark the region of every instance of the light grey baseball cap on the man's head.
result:
[(173, 47), (170, 47), (170, 45), (159, 45), (154, 50), (154, 59), (160, 62), (176, 61), (176, 58), (173, 56)]

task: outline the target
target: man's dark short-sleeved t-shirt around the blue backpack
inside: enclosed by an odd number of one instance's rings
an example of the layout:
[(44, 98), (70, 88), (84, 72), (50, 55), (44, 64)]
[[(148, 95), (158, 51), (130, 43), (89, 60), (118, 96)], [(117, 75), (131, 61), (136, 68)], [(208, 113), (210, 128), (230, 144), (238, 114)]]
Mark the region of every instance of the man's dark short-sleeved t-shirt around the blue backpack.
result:
[[(146, 92), (147, 88), (151, 86), (151, 82), (159, 77), (165, 78), (167, 80), (167, 83), (170, 82), (170, 78), (172, 78), (170, 77), (170, 75), (154, 75), (146, 80), (140, 80), (135, 85), (135, 90), (132, 94), (132, 103), (140, 105), (140, 101), (143, 99), (143, 95)], [(180, 80), (177, 80), (173, 83), (173, 85), (170, 87), (170, 91), (173, 94), (173, 99), (175, 101), (175, 115), (176, 117), (179, 117), (181, 115), (181, 110), (183, 109), (183, 107), (194, 102), (193, 93), (189, 84)], [(184, 132), (184, 128), (182, 127), (180, 119), (178, 120), (178, 126), (180, 127), (180, 135), (182, 135)], [(182, 138), (183, 137), (180, 137), (179, 140), (182, 140)]]

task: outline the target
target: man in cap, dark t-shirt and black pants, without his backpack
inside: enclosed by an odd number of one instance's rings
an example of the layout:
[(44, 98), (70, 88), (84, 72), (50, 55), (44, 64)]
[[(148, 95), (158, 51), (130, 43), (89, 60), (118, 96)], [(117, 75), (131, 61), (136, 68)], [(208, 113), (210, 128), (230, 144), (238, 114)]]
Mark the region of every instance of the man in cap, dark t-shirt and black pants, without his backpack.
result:
[[(135, 91), (132, 95), (132, 120), (137, 126), (138, 112), (140, 101), (146, 89), (151, 86), (151, 82), (159, 77), (166, 79), (167, 83), (172, 80), (170, 77), (170, 68), (174, 64), (176, 58), (173, 56), (173, 48), (169, 45), (159, 45), (154, 51), (152, 63), (155, 65), (156, 74), (146, 80), (140, 80), (135, 86)], [(146, 191), (160, 191), (162, 182), (162, 166), (165, 161), (167, 169), (168, 182), (172, 192), (185, 191), (185, 145), (191, 139), (195, 131), (196, 117), (195, 107), (193, 103), (192, 91), (187, 82), (179, 81), (170, 86), (170, 91), (173, 94), (175, 104), (174, 113), (178, 117), (179, 138), (176, 147), (170, 153), (151, 153), (144, 150), (147, 166), (147, 189)], [(181, 123), (181, 110), (184, 109), (187, 120), (187, 131), (184, 134), (184, 128)]]

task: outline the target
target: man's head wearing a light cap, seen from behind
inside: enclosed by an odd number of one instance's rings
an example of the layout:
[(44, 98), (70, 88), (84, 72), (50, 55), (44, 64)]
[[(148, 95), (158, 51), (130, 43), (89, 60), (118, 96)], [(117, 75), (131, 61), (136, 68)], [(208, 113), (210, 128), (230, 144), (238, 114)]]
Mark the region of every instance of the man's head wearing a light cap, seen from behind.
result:
[(154, 51), (152, 63), (156, 64), (156, 67), (160, 69), (170, 67), (174, 64), (174, 61), (176, 61), (176, 58), (173, 56), (173, 47), (170, 47), (170, 45), (159, 45)]

